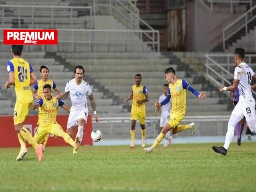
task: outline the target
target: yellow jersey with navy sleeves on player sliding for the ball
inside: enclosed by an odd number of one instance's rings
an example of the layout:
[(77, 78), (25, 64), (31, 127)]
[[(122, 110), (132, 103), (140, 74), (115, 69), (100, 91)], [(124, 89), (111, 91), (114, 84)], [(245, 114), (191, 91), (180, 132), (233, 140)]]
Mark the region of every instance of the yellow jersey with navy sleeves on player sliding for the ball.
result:
[(56, 97), (52, 96), (52, 99), (47, 100), (43, 97), (39, 99), (38, 103), (41, 105), (40, 125), (47, 125), (56, 122), (58, 106), (64, 105), (61, 99), (56, 99)]

